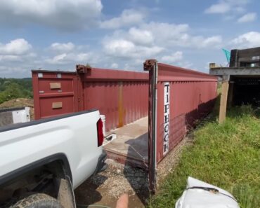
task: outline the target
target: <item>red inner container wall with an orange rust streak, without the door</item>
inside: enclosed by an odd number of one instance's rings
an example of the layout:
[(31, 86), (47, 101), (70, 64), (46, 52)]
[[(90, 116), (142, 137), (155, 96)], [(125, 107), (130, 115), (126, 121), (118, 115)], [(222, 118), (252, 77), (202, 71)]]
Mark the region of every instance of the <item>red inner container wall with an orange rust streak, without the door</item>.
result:
[(148, 74), (112, 69), (84, 70), (84, 109), (105, 115), (106, 130), (148, 115)]

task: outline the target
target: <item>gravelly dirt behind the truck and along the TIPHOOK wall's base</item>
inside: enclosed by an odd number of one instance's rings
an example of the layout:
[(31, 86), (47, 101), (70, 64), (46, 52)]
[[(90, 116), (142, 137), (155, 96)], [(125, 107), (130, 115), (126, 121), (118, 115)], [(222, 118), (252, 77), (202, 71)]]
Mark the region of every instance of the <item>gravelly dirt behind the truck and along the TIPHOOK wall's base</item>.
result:
[[(158, 165), (158, 181), (162, 181), (178, 163), (184, 146), (192, 139), (186, 137)], [(129, 208), (145, 207), (150, 193), (148, 190), (148, 172), (143, 169), (122, 165), (114, 160), (106, 160), (108, 169), (86, 180), (75, 190), (77, 204), (101, 204), (115, 207), (117, 199), (123, 193), (129, 194)]]

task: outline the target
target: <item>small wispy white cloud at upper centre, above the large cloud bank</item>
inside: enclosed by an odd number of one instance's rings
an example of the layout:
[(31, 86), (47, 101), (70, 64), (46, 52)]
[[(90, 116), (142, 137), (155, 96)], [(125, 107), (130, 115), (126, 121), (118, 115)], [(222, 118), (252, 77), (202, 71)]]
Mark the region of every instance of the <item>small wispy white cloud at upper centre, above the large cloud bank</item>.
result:
[(117, 29), (129, 25), (138, 25), (143, 22), (144, 18), (145, 15), (141, 11), (126, 9), (118, 18), (112, 18), (101, 22), (100, 27), (105, 29)]

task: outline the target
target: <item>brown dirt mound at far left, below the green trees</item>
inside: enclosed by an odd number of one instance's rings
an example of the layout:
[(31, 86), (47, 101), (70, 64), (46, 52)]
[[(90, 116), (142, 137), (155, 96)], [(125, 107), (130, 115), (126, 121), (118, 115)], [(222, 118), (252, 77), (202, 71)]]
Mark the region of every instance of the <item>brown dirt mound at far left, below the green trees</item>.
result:
[(11, 99), (0, 104), (0, 109), (10, 109), (15, 107), (30, 107), (30, 118), (34, 120), (34, 100), (27, 98)]

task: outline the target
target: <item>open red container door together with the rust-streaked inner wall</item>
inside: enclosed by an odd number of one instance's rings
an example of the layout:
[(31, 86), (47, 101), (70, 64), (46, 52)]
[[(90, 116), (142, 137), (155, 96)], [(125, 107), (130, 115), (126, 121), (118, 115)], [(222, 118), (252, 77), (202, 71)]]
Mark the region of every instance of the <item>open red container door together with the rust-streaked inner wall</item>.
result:
[(35, 119), (98, 109), (112, 130), (148, 115), (147, 73), (78, 65), (77, 73), (34, 70), (32, 79)]

